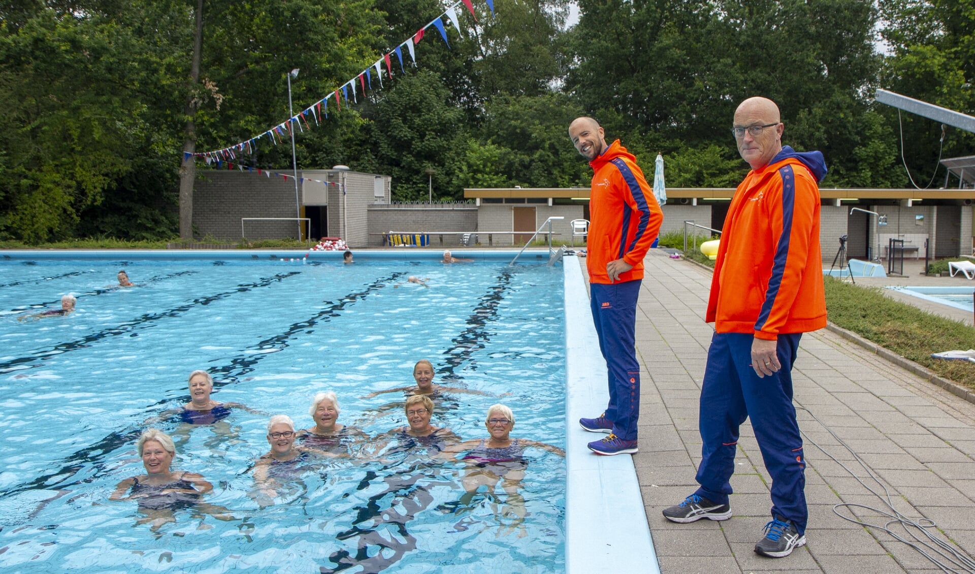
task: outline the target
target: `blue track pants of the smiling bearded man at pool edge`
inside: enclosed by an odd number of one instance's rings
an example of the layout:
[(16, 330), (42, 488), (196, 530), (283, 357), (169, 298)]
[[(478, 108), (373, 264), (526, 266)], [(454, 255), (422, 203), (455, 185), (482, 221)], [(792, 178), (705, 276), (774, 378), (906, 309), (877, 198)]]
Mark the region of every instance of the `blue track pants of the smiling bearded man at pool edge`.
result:
[(623, 440), (637, 440), (640, 418), (640, 364), (635, 331), (641, 283), (635, 280), (589, 286), (593, 323), (609, 383), (605, 417), (613, 422), (612, 433)]

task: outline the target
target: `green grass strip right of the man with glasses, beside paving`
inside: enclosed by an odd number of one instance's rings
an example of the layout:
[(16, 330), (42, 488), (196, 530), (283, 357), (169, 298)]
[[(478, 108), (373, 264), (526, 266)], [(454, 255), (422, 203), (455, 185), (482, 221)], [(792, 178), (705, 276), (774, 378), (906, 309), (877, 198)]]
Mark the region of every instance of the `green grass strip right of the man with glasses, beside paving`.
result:
[(975, 348), (975, 327), (925, 313), (883, 295), (825, 277), (826, 309), (834, 324), (851, 330), (939, 376), (975, 388), (975, 364), (932, 359), (932, 353)]

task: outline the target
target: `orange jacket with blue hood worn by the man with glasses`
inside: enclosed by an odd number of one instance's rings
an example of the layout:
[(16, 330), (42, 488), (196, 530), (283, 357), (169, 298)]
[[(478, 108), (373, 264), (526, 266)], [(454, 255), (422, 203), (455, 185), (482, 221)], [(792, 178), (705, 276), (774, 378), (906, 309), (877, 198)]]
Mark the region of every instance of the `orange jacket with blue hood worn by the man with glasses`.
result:
[(720, 333), (775, 340), (826, 326), (819, 249), (823, 154), (782, 148), (748, 173), (724, 219), (705, 320)]

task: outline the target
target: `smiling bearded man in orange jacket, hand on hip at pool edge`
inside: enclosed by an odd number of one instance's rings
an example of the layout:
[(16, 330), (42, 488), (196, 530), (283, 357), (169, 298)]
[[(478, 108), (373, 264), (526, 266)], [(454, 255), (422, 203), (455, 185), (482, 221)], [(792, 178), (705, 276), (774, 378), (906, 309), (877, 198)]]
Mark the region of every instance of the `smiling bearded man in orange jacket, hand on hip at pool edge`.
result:
[(568, 127), (568, 136), (594, 172), (586, 266), (593, 323), (609, 383), (609, 404), (604, 413), (579, 419), (579, 424), (593, 433), (608, 433), (605, 439), (589, 443), (596, 454), (632, 454), (638, 449), (640, 417), (637, 296), (643, 280), (643, 256), (660, 231), (663, 212), (637, 166), (637, 158), (618, 139), (606, 145), (603, 128), (596, 120), (576, 118)]

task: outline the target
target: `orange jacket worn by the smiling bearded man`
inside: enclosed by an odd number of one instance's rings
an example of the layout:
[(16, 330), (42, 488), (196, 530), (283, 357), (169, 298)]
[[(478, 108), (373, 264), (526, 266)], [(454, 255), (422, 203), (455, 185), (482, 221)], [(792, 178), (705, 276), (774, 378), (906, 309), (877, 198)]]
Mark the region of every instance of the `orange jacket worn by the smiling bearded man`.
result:
[(606, 263), (615, 259), (633, 265), (616, 283), (643, 279), (643, 257), (660, 231), (663, 211), (637, 166), (637, 158), (619, 144), (619, 139), (589, 165), (594, 172), (586, 241), (589, 282), (610, 283)]

